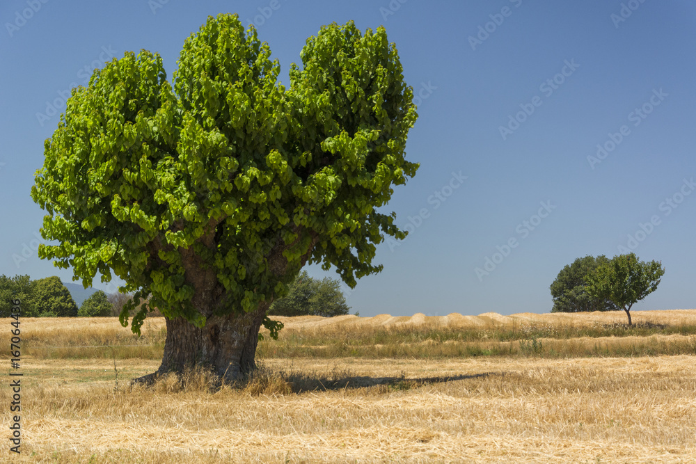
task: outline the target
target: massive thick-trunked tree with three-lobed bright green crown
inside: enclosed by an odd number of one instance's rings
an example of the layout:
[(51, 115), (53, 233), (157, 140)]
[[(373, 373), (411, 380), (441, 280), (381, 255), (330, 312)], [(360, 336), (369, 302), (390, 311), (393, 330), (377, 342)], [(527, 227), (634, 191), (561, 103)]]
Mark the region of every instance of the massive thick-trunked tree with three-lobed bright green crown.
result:
[[(266, 312), (306, 263), (353, 287), (376, 245), (403, 239), (379, 208), (418, 165), (416, 121), (386, 31), (323, 26), (280, 85), (253, 26), (209, 17), (184, 42), (173, 85), (161, 57), (132, 52), (72, 91), (32, 198), (48, 215), (39, 255), (132, 291), (120, 320), (166, 316), (157, 373), (195, 364), (237, 378), (254, 367)], [(157, 374), (155, 373), (155, 374)], [(152, 377), (143, 378), (149, 381)]]

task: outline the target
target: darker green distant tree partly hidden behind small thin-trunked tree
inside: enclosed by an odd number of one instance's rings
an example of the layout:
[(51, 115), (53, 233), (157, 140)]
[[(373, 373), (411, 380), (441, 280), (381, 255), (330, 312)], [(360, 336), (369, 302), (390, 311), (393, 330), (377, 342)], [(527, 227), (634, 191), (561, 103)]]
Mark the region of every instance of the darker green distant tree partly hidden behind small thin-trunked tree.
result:
[(583, 312), (619, 310), (612, 301), (593, 298), (587, 293), (585, 276), (597, 266), (606, 264), (609, 259), (604, 255), (585, 256), (576, 259), (573, 264), (565, 266), (551, 284), (553, 308), (551, 312)]

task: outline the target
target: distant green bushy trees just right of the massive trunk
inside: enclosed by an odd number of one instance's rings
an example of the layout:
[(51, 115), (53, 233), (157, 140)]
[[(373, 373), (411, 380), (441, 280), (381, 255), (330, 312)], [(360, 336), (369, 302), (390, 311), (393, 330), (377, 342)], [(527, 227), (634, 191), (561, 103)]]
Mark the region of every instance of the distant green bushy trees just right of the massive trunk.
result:
[(269, 314), (333, 317), (348, 314), (350, 310), (338, 280), (317, 280), (311, 278), (307, 271), (302, 271), (288, 288), (287, 296), (274, 301)]

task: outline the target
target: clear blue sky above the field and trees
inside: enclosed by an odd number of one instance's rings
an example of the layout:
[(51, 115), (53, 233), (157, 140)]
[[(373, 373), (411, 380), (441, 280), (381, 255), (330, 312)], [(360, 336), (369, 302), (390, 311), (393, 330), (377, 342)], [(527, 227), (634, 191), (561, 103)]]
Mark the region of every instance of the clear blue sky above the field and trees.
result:
[(218, 13), (255, 23), (284, 83), (323, 24), (383, 25), (399, 50), (420, 99), (407, 145), (420, 169), (388, 211), (413, 232), (379, 246), (384, 270), (346, 292), (352, 311), (548, 312), (563, 266), (619, 247), (666, 270), (634, 310), (696, 307), (686, 0), (3, 1), (0, 273), (71, 281), (36, 255), (44, 211), (29, 196), (61, 94), (124, 51), (159, 52), (171, 77)]

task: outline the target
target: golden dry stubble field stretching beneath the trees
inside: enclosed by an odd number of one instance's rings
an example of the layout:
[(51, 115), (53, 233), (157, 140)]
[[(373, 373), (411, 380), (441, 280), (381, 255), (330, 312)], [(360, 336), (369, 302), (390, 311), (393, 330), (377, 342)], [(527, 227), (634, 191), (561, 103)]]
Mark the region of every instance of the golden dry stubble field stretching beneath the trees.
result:
[(200, 372), (127, 385), (157, 369), (161, 319), (140, 339), (116, 319), (23, 319), (22, 455), (6, 442), (0, 460), (696, 462), (696, 310), (624, 318), (279, 318), (259, 373), (221, 390)]

